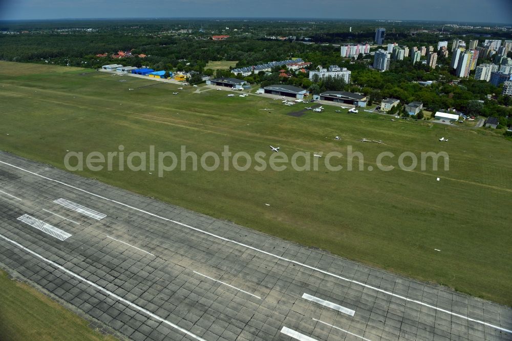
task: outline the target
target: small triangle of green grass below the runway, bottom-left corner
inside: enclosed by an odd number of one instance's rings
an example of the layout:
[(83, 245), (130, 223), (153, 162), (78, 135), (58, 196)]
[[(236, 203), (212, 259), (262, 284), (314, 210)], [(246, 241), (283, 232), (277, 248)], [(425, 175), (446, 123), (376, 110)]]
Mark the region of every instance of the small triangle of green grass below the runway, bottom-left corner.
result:
[(0, 270), (0, 340), (115, 340), (25, 283)]

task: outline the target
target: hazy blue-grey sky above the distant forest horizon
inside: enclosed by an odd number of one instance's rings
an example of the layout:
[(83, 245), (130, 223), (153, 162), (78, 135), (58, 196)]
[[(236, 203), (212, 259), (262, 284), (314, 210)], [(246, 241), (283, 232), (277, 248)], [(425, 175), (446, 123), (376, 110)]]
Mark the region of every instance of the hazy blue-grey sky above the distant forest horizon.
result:
[(0, 19), (311, 17), (512, 25), (512, 0), (0, 0)]

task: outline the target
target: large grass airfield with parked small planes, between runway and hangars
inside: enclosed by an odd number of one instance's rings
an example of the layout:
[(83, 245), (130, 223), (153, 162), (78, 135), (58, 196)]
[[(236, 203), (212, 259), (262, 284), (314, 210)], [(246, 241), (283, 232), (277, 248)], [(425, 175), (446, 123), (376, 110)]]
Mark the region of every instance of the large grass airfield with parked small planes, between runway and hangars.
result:
[[(31, 72), (24, 72), (30, 67)], [(19, 70), (19, 72), (17, 72)], [(38, 71), (40, 70), (40, 71)], [(85, 73), (85, 74), (84, 74)], [(126, 80), (121, 82), (120, 80)], [(83, 171), (105, 183), (459, 291), (512, 304), (512, 143), (485, 131), (305, 105), (92, 70), (0, 62), (0, 149), (63, 168), (66, 151), (364, 154), (364, 171)], [(135, 89), (129, 91), (128, 89)], [(271, 108), (273, 111), (260, 111)], [(6, 135), (9, 134), (9, 135)], [(334, 140), (340, 136), (341, 141)], [(439, 137), (450, 142), (439, 142)], [(382, 140), (387, 145), (360, 142)], [(445, 151), (450, 170), (376, 169)], [(336, 163), (336, 158), (333, 163)], [(189, 160), (190, 161), (190, 160)], [(346, 160), (342, 159), (343, 164)], [(301, 161), (299, 161), (302, 163)], [(241, 162), (242, 163), (242, 162)], [(355, 164), (355, 162), (354, 162)], [(442, 165), (442, 163), (441, 163)], [(187, 166), (191, 166), (188, 162)], [(357, 167), (356, 167), (357, 169)], [(441, 181), (436, 181), (440, 177)], [(265, 204), (269, 204), (267, 206)], [(440, 249), (441, 252), (434, 249)]]

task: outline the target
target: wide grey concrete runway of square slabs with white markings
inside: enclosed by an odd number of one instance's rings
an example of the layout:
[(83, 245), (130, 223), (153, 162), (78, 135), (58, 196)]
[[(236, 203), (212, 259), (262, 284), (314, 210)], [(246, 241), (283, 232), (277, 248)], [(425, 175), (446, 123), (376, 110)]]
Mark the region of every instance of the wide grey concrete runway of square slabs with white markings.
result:
[(512, 309), (0, 152), (0, 263), (134, 340), (510, 340)]

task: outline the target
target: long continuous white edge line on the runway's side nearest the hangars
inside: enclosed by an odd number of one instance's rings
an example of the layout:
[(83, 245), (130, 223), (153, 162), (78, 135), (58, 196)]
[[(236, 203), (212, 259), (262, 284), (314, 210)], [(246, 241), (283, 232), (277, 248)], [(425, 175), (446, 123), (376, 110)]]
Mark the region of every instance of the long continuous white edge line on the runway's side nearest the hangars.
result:
[(488, 326), (488, 327), (492, 327), (492, 328), (496, 328), (496, 329), (499, 329), (499, 330), (502, 330), (502, 331), (505, 331), (507, 333), (512, 333), (512, 330), (508, 330), (508, 329), (505, 329), (505, 328), (502, 328), (502, 327), (499, 327), (499, 326), (495, 326), (495, 325), (492, 325), (490, 323), (487, 323), (487, 322), (483, 322), (483, 321), (480, 321), (478, 319), (474, 319), (474, 318), (471, 318), (471, 317), (468, 317), (468, 316), (464, 316), (464, 315), (460, 315), (460, 314), (457, 314), (457, 313), (454, 313), (452, 311), (449, 311), (449, 310), (445, 310), (445, 309), (442, 309), (442, 308), (438, 308), (438, 307), (435, 307), (433, 305), (430, 305), (428, 303), (424, 303), (424, 302), (421, 302), (421, 301), (417, 301), (417, 300), (413, 300), (413, 299), (409, 299), (408, 297), (405, 297), (405, 296), (402, 296), (402, 295), (397, 295), (397, 294), (394, 294), (390, 291), (387, 291), (387, 290), (383, 290), (383, 289), (380, 289), (380, 288), (377, 288), (377, 287), (374, 287), (374, 286), (371, 286), (371, 285), (368, 285), (368, 284), (365, 284), (365, 283), (362, 283), (362, 282), (359, 282), (359, 281), (355, 281), (355, 280), (351, 280), (351, 279), (348, 279), (348, 278), (345, 278), (343, 276), (340, 276), (340, 275), (337, 275), (337, 274), (334, 274), (334, 273), (331, 273), (331, 272), (328, 272), (328, 271), (325, 271), (325, 270), (322, 270), (322, 269), (318, 269), (318, 268), (315, 268), (313, 266), (310, 266), (310, 265), (307, 265), (307, 264), (303, 264), (303, 263), (300, 263), (300, 262), (297, 262), (297, 261), (293, 261), (293, 260), (290, 260), (290, 259), (287, 259), (287, 258), (284, 258), (284, 257), (281, 257), (279, 255), (276, 255), (276, 254), (273, 254), (273, 253), (270, 253), (270, 252), (267, 252), (267, 251), (264, 251), (264, 250), (260, 250), (258, 248), (255, 248), (253, 246), (250, 246), (250, 245), (247, 245), (247, 244), (244, 244), (244, 243), (240, 243), (240, 242), (237, 242), (237, 241), (234, 241), (234, 240), (230, 240), (230, 239), (227, 239), (227, 238), (224, 238), (224, 237), (221, 237), (221, 236), (217, 236), (215, 235), (214, 233), (211, 233), (211, 232), (208, 232), (208, 231), (205, 231), (205, 230), (202, 230), (200, 228), (197, 228), (197, 227), (193, 227), (193, 226), (190, 226), (190, 225), (187, 225), (187, 224), (183, 224), (183, 223), (180, 223), (176, 220), (172, 220), (172, 219), (168, 219), (168, 218), (165, 218), (165, 217), (161, 217), (161, 216), (158, 216), (154, 213), (151, 213), (151, 212), (148, 212), (148, 211), (145, 211), (143, 209), (140, 209), (140, 208), (137, 208), (137, 207), (134, 207), (134, 206), (130, 206), (130, 205), (127, 205), (127, 204), (124, 204), (122, 202), (119, 202), (119, 201), (116, 201), (116, 200), (113, 200), (113, 199), (109, 199), (109, 198), (105, 198), (105, 197), (102, 197), (100, 195), (97, 195), (97, 194), (94, 194), (94, 193), (91, 193), (90, 191), (87, 191), (85, 189), (81, 189), (81, 188), (78, 188), (78, 187), (75, 187), (73, 185), (69, 185), (65, 182), (62, 182), (62, 181), (59, 181), (59, 180), (55, 180), (55, 179), (51, 179), (51, 178), (48, 178), (48, 177), (45, 177), (43, 175), (39, 175), (37, 173), (34, 173), (34, 172), (31, 172), (31, 171), (28, 171), (27, 169), (24, 169), (22, 167), (18, 167), (18, 166), (15, 166), (13, 164), (10, 164), (10, 163), (7, 163), (7, 162), (4, 162), (4, 161), (0, 161), (0, 163), (3, 163), (5, 165), (8, 165), (8, 166), (11, 166), (13, 168), (16, 168), (16, 169), (19, 169), (20, 171), (23, 171), (23, 172), (26, 172), (26, 173), (29, 173), (29, 174), (32, 174), (32, 175), (35, 175), (37, 177), (40, 177), (40, 178), (43, 178), (43, 179), (46, 179), (48, 181), (53, 181), (55, 183), (59, 183), (63, 186), (66, 186), (66, 187), (69, 187), (69, 188), (73, 188), (73, 189), (76, 189), (76, 190), (79, 190), (83, 193), (87, 193), (91, 196), (94, 196), (96, 198), (100, 198), (100, 199), (103, 199), (105, 201), (109, 201), (109, 202), (112, 202), (112, 203), (115, 203), (115, 204), (118, 204), (118, 205), (121, 205), (121, 206), (124, 206), (124, 207), (127, 207), (127, 208), (131, 208), (133, 210), (136, 210), (136, 211), (139, 211), (139, 212), (142, 212), (144, 214), (147, 214), (149, 216), (152, 216), (152, 217), (155, 217), (155, 218), (159, 218), (159, 219), (162, 219), (164, 221), (168, 221), (170, 223), (174, 223), (174, 224), (178, 224), (180, 226), (183, 226), (183, 227), (186, 227), (186, 228), (189, 228), (191, 230), (194, 230), (194, 231), (198, 231), (198, 232), (201, 232), (201, 233), (204, 233), (205, 235), (207, 236), (211, 236), (211, 237), (214, 237), (214, 238), (217, 238), (217, 239), (220, 239), (220, 240), (223, 240), (223, 241), (226, 241), (226, 242), (229, 242), (229, 243), (233, 243), (233, 244), (237, 244), (237, 245), (240, 245), (240, 246), (243, 246), (245, 248), (248, 248), (248, 249), (251, 249), (251, 250), (254, 250), (254, 251), (257, 251), (257, 252), (260, 252), (260, 253), (263, 253), (263, 254), (266, 254), (266, 255), (269, 255), (271, 257), (274, 257), (276, 259), (280, 259), (282, 261), (286, 261), (286, 262), (289, 262), (289, 263), (293, 263), (293, 264), (297, 264), (297, 265), (300, 265), (300, 266), (303, 266), (305, 268), (308, 268), (310, 270), (313, 270), (313, 271), (317, 271), (317, 272), (320, 272), (320, 273), (323, 273), (323, 274), (326, 274), (326, 275), (329, 275), (329, 276), (332, 276), (334, 278), (337, 278), (339, 280), (343, 280), (343, 281), (347, 281), (347, 282), (350, 282), (350, 283), (354, 283), (354, 284), (357, 284), (357, 285), (360, 285), (360, 286), (363, 286), (365, 288), (369, 288), (369, 289), (372, 289), (372, 290), (375, 290), (377, 292), (381, 292), (383, 294), (387, 294), (387, 295), (390, 295), (390, 296), (393, 296), (393, 297), (396, 297), (397, 299), (401, 299), (401, 300), (404, 300), (404, 301), (408, 301), (408, 302), (413, 302), (413, 303), (416, 303), (416, 304), (419, 304), (421, 306), (424, 306), (424, 307), (429, 307), (429, 308), (432, 308), (434, 310), (437, 310), (437, 311), (442, 311), (446, 314), (449, 314), (449, 315), (452, 315), (452, 316), (457, 316), (457, 317), (460, 317), (462, 319), (466, 319), (467, 321), (471, 321), (471, 322), (475, 322), (475, 323), (479, 323), (479, 324), (482, 324), (484, 326)]

